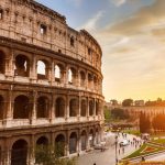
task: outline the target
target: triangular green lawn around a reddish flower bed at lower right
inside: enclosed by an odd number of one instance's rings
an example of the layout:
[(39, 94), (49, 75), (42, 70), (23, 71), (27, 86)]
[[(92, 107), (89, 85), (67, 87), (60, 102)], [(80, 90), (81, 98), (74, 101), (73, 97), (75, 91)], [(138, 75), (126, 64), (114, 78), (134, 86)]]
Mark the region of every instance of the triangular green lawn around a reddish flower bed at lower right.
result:
[[(144, 152), (145, 148), (147, 148), (147, 147), (152, 147), (152, 148), (154, 148), (154, 151)], [(163, 150), (165, 150), (165, 148), (164, 147), (154, 146), (152, 144), (143, 144), (138, 151), (135, 151), (131, 155), (124, 157), (123, 160), (133, 158), (133, 157), (136, 157), (136, 156), (142, 156), (142, 155), (146, 155), (146, 154), (150, 154), (150, 153), (156, 153), (156, 152), (160, 152), (160, 151), (163, 151)]]

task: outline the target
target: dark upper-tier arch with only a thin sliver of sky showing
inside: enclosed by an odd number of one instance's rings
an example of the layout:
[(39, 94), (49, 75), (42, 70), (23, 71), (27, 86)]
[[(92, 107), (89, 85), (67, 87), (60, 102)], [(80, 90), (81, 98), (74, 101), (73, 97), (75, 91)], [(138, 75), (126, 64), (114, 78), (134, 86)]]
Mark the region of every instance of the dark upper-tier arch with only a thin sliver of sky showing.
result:
[(15, 57), (15, 70), (14, 75), (29, 77), (30, 74), (30, 61), (24, 55), (18, 55)]

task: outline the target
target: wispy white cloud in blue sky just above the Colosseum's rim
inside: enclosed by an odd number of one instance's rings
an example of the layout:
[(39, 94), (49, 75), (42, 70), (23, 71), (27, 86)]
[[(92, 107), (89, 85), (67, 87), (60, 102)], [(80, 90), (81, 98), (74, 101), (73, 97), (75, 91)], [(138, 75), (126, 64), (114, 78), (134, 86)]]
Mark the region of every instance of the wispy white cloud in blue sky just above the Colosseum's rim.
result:
[(103, 16), (103, 11), (99, 11), (95, 16), (89, 19), (84, 25), (81, 25), (78, 29), (86, 29), (87, 31), (95, 32), (102, 16)]

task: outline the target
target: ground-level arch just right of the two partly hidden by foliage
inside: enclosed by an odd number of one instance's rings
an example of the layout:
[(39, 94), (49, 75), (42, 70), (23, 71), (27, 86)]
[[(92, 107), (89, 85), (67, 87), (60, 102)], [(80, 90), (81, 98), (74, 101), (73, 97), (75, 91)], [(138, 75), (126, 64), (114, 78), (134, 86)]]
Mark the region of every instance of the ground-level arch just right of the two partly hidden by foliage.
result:
[(74, 154), (77, 152), (77, 134), (73, 132), (69, 138), (69, 153)]

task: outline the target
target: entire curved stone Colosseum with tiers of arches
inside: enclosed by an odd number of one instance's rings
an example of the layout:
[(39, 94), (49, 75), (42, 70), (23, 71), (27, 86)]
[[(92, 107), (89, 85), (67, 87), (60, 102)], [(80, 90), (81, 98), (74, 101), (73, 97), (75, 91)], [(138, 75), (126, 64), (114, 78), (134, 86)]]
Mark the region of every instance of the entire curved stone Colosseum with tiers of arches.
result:
[(36, 145), (64, 156), (102, 139), (102, 52), (85, 30), (34, 0), (0, 1), (0, 165), (34, 165)]

